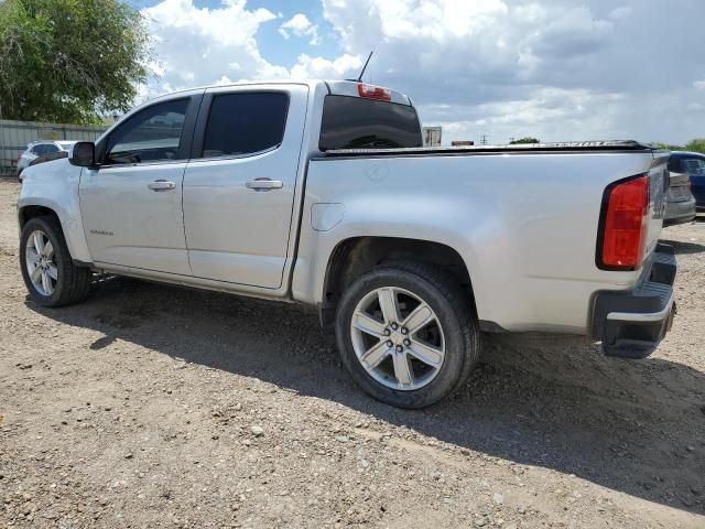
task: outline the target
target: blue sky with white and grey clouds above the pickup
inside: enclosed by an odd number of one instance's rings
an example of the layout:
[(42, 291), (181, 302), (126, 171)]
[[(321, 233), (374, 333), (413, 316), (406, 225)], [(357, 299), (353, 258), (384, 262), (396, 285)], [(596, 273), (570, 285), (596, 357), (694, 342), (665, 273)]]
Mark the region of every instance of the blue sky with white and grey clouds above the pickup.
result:
[(148, 99), (243, 79), (357, 77), (443, 143), (705, 137), (704, 0), (133, 0)]

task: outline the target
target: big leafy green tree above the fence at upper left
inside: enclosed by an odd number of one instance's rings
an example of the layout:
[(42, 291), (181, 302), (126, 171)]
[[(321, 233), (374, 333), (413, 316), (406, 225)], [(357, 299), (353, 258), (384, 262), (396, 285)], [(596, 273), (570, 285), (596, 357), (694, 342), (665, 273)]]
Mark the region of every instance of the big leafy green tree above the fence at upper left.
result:
[(124, 111), (149, 60), (142, 15), (121, 0), (0, 0), (6, 119), (89, 123)]

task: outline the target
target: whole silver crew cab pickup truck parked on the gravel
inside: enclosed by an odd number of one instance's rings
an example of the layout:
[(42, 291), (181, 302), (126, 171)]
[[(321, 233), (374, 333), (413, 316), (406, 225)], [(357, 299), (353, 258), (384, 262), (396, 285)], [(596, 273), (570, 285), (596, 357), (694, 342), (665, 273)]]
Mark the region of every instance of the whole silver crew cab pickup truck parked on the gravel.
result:
[(409, 97), (357, 82), (193, 89), (26, 169), (20, 260), (45, 306), (96, 273), (313, 305), (365, 391), (420, 408), (486, 333), (649, 355), (674, 313), (668, 161), (631, 141), (423, 148)]

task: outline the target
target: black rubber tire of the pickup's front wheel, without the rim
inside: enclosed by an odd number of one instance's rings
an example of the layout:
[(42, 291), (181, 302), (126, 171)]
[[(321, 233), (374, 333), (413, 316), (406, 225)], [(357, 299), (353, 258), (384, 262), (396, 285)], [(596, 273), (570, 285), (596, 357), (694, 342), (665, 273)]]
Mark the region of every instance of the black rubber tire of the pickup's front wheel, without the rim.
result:
[[(34, 231), (42, 231), (54, 248), (56, 283), (51, 295), (40, 292), (32, 280), (26, 266), (28, 239)], [(34, 217), (26, 222), (20, 235), (20, 267), (30, 299), (42, 306), (64, 306), (83, 301), (88, 296), (93, 283), (93, 272), (88, 268), (76, 267), (68, 253), (66, 239), (58, 219), (53, 216)]]

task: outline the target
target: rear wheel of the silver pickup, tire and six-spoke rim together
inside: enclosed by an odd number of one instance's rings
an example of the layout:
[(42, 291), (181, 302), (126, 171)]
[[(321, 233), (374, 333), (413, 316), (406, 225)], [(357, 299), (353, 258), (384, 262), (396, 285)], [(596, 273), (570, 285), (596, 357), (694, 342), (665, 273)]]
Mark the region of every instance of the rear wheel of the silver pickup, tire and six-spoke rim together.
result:
[(477, 365), (480, 332), (462, 287), (424, 263), (377, 268), (344, 293), (336, 315), (343, 363), (370, 396), (423, 408)]

